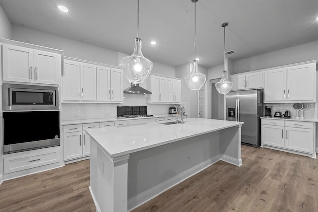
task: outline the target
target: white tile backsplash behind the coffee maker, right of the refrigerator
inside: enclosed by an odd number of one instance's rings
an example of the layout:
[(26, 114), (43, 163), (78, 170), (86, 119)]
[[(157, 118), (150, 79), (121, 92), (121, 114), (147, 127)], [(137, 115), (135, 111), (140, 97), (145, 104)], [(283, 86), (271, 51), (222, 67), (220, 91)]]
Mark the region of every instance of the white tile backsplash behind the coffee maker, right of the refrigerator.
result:
[[(292, 118), (297, 116), (297, 111), (293, 108), (294, 103), (265, 103), (265, 106), (272, 106), (272, 116), (275, 112), (285, 113), (286, 110), (290, 111)], [(315, 119), (315, 103), (306, 103), (308, 104), (308, 109), (304, 111), (304, 119)], [(265, 112), (265, 111), (264, 111)], [(299, 117), (301, 116), (301, 111), (299, 111)]]

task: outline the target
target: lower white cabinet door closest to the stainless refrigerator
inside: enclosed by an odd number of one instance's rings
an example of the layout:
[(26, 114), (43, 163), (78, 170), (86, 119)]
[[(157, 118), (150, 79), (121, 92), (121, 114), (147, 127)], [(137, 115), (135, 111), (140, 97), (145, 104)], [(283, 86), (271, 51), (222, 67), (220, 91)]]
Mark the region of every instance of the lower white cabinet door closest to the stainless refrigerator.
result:
[(284, 148), (284, 127), (262, 124), (262, 144)]

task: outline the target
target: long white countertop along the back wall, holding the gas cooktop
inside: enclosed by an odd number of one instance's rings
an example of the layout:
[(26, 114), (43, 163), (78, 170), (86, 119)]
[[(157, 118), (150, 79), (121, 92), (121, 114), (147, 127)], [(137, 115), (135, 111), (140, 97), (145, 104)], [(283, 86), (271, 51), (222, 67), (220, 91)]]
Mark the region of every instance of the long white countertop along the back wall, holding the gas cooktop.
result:
[(72, 124), (86, 124), (86, 123), (99, 123), (99, 122), (108, 122), (108, 121), (123, 121), (123, 120), (138, 120), (138, 119), (145, 119), (145, 118), (162, 118), (162, 117), (169, 117), (169, 116), (181, 116), (181, 115), (171, 115), (171, 114), (164, 114), (164, 115), (154, 115), (153, 117), (140, 117), (140, 118), (94, 118), (94, 119), (81, 119), (81, 120), (66, 120), (61, 121), (63, 125), (72, 125)]

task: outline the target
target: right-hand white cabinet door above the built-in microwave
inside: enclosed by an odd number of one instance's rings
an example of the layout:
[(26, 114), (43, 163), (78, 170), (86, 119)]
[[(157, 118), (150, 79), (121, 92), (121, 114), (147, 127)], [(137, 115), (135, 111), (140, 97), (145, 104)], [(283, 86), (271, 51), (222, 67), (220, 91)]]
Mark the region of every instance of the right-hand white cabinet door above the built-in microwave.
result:
[(60, 84), (61, 55), (34, 50), (34, 82)]

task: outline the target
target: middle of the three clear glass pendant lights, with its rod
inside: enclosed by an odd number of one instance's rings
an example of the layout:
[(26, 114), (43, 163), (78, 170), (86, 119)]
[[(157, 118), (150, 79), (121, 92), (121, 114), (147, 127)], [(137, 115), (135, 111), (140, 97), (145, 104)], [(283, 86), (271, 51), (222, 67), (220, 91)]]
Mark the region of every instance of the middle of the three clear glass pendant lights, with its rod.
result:
[[(196, 49), (195, 49), (195, 18), (196, 18), (196, 2), (198, 0), (191, 0), (194, 3), (194, 58), (196, 58)], [(190, 90), (200, 90), (205, 81), (207, 80), (207, 76), (200, 73), (198, 70), (198, 61), (196, 59), (193, 60), (193, 67), (190, 74), (184, 77), (185, 84), (189, 87)]]

